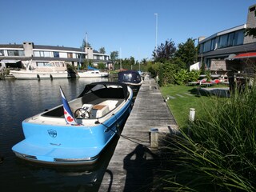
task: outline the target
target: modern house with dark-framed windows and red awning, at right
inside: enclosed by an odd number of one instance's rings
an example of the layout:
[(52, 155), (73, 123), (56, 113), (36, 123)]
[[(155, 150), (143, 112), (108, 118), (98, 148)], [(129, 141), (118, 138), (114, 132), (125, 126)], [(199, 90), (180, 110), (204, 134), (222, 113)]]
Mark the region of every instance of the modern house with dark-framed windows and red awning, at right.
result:
[[(240, 56), (243, 55), (242, 60), (251, 60), (254, 58), (255, 64), (256, 54), (249, 53), (256, 52), (256, 38), (245, 36), (246, 28), (256, 27), (255, 7), (256, 4), (248, 8), (247, 21), (245, 24), (220, 31), (208, 38), (201, 37), (198, 39), (198, 61), (200, 61), (201, 65), (202, 63), (205, 64), (206, 70), (210, 70), (212, 74), (223, 74), (230, 70), (236, 70), (234, 67), (230, 66), (230, 61), (238, 59), (239, 54)], [(246, 56), (246, 54), (249, 56)], [(244, 61), (239, 62), (242, 63)], [(240, 70), (242, 70), (242, 68)]]

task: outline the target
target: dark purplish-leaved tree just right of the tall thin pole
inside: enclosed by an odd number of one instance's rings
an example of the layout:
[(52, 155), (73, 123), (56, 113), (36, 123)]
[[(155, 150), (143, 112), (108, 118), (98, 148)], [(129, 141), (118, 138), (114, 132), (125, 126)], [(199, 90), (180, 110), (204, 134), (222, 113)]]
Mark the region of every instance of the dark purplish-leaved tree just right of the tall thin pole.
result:
[(170, 59), (174, 57), (175, 52), (175, 43), (171, 40), (166, 40), (165, 44), (161, 43), (157, 50), (153, 51), (152, 56), (155, 62), (165, 62), (170, 61)]

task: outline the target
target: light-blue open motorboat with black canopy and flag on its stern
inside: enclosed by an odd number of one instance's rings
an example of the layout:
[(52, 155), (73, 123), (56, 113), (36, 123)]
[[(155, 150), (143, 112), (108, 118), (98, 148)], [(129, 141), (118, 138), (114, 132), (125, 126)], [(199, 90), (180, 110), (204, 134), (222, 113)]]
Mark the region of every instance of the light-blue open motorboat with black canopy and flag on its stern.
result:
[[(70, 102), (22, 122), (25, 139), (13, 146), (18, 158), (60, 165), (92, 164), (126, 122), (132, 90), (120, 82), (94, 82)], [(64, 109), (64, 110), (63, 110)]]

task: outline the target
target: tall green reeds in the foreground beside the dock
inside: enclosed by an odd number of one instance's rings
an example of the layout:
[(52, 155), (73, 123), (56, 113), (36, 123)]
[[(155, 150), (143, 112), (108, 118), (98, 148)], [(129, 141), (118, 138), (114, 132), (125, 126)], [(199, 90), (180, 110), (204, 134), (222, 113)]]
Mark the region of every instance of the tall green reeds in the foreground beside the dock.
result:
[(255, 87), (205, 106), (166, 143), (158, 190), (256, 191)]

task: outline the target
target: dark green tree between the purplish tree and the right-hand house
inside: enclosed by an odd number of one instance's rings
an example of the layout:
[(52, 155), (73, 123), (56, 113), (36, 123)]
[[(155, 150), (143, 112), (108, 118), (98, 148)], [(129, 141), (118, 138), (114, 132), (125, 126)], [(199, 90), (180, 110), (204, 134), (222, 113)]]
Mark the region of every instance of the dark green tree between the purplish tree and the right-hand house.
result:
[(186, 63), (186, 69), (190, 69), (190, 65), (194, 64), (198, 58), (198, 48), (194, 44), (192, 38), (188, 38), (185, 43), (178, 44), (178, 50), (175, 57), (181, 58)]

